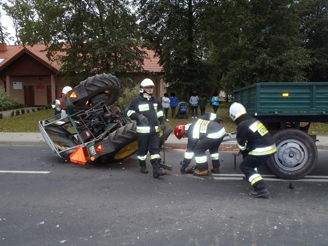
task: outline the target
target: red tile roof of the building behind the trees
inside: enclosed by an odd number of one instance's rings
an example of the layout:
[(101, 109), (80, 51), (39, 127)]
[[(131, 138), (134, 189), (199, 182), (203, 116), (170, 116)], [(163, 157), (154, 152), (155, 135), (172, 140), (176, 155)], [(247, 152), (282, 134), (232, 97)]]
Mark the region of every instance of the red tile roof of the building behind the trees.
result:
[[(23, 45), (6, 45), (0, 43), (0, 59), (5, 58), (4, 61), (0, 63), (0, 70), (4, 69), (8, 65), (12, 63), (15, 59), (17, 59), (24, 52), (30, 54), (32, 57), (43, 63), (45, 66), (49, 67), (56, 73), (60, 69), (60, 65), (58, 63), (50, 61), (44, 51), (46, 46), (43, 44), (36, 44), (33, 46), (23, 46)], [(4, 51), (5, 50), (5, 51)], [(155, 57), (155, 52), (152, 50), (146, 50), (147, 58), (144, 60), (144, 70), (150, 72), (162, 72), (162, 67), (159, 65), (159, 58)]]

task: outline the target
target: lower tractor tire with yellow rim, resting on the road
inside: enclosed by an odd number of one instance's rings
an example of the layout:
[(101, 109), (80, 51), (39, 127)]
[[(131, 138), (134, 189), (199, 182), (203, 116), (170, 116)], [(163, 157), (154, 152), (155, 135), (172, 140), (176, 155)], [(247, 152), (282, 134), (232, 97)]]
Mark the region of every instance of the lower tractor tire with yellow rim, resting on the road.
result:
[(136, 129), (136, 122), (118, 128), (116, 131), (109, 134), (115, 151), (107, 155), (101, 156), (101, 162), (112, 163), (123, 160), (133, 155), (138, 150), (138, 139)]

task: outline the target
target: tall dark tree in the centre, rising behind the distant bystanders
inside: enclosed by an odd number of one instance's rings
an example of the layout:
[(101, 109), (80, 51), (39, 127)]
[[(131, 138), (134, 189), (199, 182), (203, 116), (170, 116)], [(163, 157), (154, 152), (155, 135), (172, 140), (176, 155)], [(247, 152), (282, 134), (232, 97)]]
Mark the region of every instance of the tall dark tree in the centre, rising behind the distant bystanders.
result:
[[(135, 0), (145, 45), (160, 58), (171, 91), (189, 98), (192, 91), (212, 91), (209, 65), (201, 43), (202, 16), (210, 1)], [(181, 94), (186, 92), (185, 94)]]

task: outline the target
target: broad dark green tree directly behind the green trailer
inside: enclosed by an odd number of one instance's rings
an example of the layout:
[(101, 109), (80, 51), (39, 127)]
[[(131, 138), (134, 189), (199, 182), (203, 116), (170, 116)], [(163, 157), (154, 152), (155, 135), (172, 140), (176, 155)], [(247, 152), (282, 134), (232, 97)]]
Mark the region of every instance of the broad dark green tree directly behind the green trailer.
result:
[[(210, 29), (210, 58), (225, 91), (262, 81), (306, 81), (311, 63), (292, 0), (221, 1)], [(218, 25), (219, 24), (219, 25)]]

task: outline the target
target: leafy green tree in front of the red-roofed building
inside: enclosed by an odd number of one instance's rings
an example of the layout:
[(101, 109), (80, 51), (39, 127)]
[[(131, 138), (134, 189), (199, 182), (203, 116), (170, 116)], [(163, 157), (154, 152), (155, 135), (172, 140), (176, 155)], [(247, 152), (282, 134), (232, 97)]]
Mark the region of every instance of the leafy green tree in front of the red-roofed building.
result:
[[(74, 86), (96, 73), (141, 70), (136, 18), (127, 0), (9, 0), (23, 44), (47, 45), (48, 58)], [(65, 55), (60, 55), (65, 54)]]

